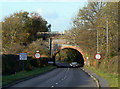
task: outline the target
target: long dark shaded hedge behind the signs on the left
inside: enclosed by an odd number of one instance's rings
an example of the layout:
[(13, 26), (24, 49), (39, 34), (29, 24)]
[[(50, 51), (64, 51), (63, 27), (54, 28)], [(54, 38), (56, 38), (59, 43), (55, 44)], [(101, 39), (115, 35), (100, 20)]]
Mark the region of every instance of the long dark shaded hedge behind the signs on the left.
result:
[[(2, 55), (2, 73), (14, 74), (15, 72), (22, 71), (23, 61), (19, 60), (19, 55), (4, 54)], [(24, 61), (24, 69), (26, 71), (34, 69), (34, 67), (43, 67), (48, 65), (49, 58), (42, 57), (40, 59), (34, 59), (31, 56), (27, 57), (27, 61)]]

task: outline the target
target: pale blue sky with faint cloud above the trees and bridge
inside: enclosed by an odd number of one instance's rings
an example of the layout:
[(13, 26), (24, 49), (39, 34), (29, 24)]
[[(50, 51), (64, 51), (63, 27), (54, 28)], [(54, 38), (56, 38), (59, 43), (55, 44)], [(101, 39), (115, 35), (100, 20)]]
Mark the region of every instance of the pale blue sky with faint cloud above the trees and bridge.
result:
[(48, 24), (51, 24), (51, 31), (63, 32), (71, 28), (72, 18), (74, 18), (79, 9), (87, 5), (82, 1), (7, 1), (0, 3), (0, 13), (3, 21), (7, 16), (19, 11), (38, 12)]

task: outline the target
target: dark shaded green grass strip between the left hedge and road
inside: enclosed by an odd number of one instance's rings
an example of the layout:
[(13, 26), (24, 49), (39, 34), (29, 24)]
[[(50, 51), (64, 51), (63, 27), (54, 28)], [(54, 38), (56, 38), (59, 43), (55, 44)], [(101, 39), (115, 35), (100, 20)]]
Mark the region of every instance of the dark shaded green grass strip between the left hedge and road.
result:
[(34, 68), (31, 71), (21, 71), (21, 72), (17, 72), (16, 74), (12, 74), (12, 75), (4, 75), (2, 76), (2, 85), (7, 85), (9, 83), (12, 83), (14, 81), (26, 78), (26, 77), (30, 77), (36, 74), (40, 74), (43, 72), (47, 72), (51, 69), (55, 68), (55, 66), (46, 66), (46, 67), (42, 67), (42, 68)]

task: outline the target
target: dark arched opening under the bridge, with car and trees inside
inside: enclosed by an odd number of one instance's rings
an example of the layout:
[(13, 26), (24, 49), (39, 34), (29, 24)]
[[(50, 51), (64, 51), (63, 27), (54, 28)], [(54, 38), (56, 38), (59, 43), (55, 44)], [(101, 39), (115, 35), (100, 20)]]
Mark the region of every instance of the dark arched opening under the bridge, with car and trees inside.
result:
[(82, 54), (72, 48), (64, 48), (59, 50), (55, 55), (55, 65), (60, 68), (71, 67), (78, 68), (84, 66)]

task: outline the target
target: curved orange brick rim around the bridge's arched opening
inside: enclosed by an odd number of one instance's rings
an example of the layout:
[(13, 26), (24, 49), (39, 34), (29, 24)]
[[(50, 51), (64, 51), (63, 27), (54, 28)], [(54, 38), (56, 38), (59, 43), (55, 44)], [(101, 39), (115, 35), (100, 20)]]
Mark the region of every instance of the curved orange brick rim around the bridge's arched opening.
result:
[(54, 63), (55, 63), (55, 56), (56, 56), (56, 54), (59, 53), (60, 50), (65, 49), (65, 48), (71, 48), (71, 49), (77, 50), (77, 51), (82, 55), (83, 60), (84, 60), (84, 63), (86, 62), (85, 55), (84, 55), (83, 51), (82, 51), (79, 47), (77, 47), (77, 46), (72, 46), (72, 45), (65, 45), (65, 46), (63, 45), (63, 46), (61, 46), (60, 48), (58, 48), (58, 49), (53, 53), (52, 59), (53, 59)]

